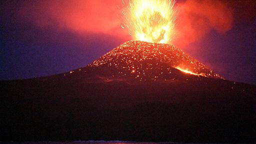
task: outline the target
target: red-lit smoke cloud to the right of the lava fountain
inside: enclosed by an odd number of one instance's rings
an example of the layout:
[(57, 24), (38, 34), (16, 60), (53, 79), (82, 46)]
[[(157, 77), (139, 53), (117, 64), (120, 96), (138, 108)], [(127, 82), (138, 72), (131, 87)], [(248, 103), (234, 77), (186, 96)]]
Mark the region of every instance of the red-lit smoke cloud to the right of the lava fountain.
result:
[(200, 40), (210, 30), (224, 34), (232, 28), (232, 8), (219, 0), (185, 0), (177, 2), (179, 10), (173, 43), (184, 47)]

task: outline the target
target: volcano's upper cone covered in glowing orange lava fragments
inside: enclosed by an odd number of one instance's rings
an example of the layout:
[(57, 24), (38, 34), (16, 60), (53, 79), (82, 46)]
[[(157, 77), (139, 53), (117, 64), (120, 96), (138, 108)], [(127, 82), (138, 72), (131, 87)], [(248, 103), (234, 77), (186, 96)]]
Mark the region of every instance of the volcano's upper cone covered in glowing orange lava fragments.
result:
[(112, 77), (129, 76), (139, 80), (175, 79), (179, 70), (187, 75), (222, 78), (173, 45), (144, 41), (127, 41), (88, 66), (97, 72), (108, 69)]

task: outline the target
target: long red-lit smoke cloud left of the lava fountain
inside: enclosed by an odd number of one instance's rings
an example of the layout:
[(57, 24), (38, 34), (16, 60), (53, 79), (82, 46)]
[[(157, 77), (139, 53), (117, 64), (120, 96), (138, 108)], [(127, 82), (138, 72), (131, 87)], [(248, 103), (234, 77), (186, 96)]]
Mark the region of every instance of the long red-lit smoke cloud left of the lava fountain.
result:
[(21, 22), (41, 28), (126, 36), (120, 27), (121, 0), (26, 0), (18, 11)]

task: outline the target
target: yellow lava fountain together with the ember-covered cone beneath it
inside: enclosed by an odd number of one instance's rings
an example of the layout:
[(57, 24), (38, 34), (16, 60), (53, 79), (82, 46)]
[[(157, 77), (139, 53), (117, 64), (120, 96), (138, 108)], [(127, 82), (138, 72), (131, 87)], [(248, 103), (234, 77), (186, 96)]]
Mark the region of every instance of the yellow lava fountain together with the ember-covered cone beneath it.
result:
[[(198, 77), (223, 78), (182, 50), (167, 44), (174, 33), (174, 3), (175, 0), (129, 1), (123, 14), (129, 21), (126, 27), (133, 31), (137, 40), (121, 44), (79, 71), (99, 73), (99, 77), (140, 81), (174, 80), (182, 77), (180, 71)], [(189, 76), (185, 74), (183, 77)]]

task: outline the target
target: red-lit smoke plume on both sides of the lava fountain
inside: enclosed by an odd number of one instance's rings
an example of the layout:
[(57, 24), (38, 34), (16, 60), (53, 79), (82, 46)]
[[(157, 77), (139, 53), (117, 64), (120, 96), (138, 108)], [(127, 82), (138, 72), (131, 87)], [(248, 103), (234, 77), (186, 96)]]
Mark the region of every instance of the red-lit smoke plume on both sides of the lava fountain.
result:
[[(179, 15), (173, 43), (179, 47), (200, 40), (214, 29), (225, 33), (232, 27), (231, 9), (219, 0), (176, 2)], [(120, 27), (121, 0), (26, 0), (19, 10), (22, 21), (39, 27), (53, 26), (75, 32), (96, 32), (129, 37)], [(125, 37), (125, 38), (124, 38)]]

